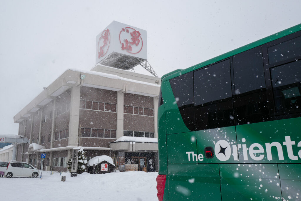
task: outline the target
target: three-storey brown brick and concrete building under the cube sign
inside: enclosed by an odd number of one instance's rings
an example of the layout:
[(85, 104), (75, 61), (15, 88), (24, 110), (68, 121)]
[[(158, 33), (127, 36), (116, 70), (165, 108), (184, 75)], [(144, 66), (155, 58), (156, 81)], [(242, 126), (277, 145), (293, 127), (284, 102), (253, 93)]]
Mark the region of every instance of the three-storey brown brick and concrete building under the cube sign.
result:
[[(14, 116), (17, 161), (43, 170), (67, 171), (70, 150), (109, 155), (119, 170), (157, 170), (157, 107), (160, 78), (95, 65), (69, 69)], [(41, 154), (45, 153), (45, 160)]]

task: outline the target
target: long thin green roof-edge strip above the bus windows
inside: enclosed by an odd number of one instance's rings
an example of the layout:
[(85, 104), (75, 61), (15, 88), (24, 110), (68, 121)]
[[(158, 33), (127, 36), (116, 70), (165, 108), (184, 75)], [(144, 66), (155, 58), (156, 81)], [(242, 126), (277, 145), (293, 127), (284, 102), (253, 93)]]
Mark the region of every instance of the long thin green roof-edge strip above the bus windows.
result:
[(286, 35), (288, 35), (290, 33), (294, 33), (294, 32), (300, 31), (300, 30), (301, 30), (301, 24), (298, 24), (296, 26), (290, 27), (290, 28), (288, 28), (286, 30), (283, 30), (283, 31), (278, 32), (278, 33), (275, 33), (275, 34), (273, 34), (271, 36), (267, 36), (267, 37), (265, 37), (263, 39), (257, 40), (255, 42), (252, 42), (252, 43), (247, 44), (245, 46), (242, 46), (240, 48), (234, 49), (234, 50), (232, 50), (230, 52), (227, 52), (225, 54), (222, 54), (222, 55), (219, 55), (217, 57), (214, 57), (214, 58), (209, 59), (207, 61), (204, 61), (204, 62), (202, 62), (200, 64), (191, 66), (190, 68), (186, 68), (186, 69), (184, 69), (182, 71), (178, 71), (178, 72), (172, 73), (170, 75), (167, 75), (166, 77), (164, 77), (162, 79), (162, 82), (164, 82), (166, 80), (169, 80), (169, 79), (172, 79), (174, 77), (177, 77), (179, 75), (188, 73), (190, 71), (194, 71), (194, 70), (196, 70), (198, 68), (202, 68), (202, 67), (204, 67), (206, 65), (213, 64), (216, 61), (221, 61), (221, 60), (223, 60), (225, 58), (231, 57), (231, 56), (236, 55), (236, 54), (238, 54), (240, 52), (244, 52), (244, 51), (247, 51), (247, 50), (252, 49), (254, 47), (261, 46), (261, 45), (263, 45), (263, 44), (265, 44), (267, 42), (271, 42), (273, 40), (279, 39), (279, 38), (281, 38), (283, 36), (286, 36)]

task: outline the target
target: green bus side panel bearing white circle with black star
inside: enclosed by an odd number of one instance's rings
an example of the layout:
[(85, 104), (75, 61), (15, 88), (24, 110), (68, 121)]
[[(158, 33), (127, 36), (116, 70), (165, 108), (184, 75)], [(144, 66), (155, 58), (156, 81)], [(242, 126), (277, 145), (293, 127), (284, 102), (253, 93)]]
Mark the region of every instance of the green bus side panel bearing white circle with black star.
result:
[[(205, 154), (205, 147), (213, 147), (213, 158), (198, 163), (238, 163), (235, 126), (196, 131), (198, 154)], [(224, 148), (224, 151), (223, 149)], [(187, 161), (188, 157), (186, 157)]]

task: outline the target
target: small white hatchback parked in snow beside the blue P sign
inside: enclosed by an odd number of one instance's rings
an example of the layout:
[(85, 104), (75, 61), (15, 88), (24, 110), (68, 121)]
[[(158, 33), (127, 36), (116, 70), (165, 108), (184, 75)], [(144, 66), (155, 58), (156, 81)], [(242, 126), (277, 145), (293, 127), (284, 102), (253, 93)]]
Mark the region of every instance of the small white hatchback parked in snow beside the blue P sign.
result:
[(25, 162), (10, 162), (4, 172), (6, 178), (11, 177), (38, 177), (40, 174), (37, 168)]

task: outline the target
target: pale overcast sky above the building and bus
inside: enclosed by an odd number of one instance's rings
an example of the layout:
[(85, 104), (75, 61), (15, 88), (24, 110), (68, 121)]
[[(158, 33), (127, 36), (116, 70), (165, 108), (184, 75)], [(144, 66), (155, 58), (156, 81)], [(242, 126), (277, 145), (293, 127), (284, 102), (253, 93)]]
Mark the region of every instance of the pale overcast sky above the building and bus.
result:
[(113, 20), (147, 31), (147, 60), (161, 77), (300, 24), (300, 7), (300, 0), (0, 0), (0, 134), (17, 134), (14, 115), (64, 71), (93, 68), (96, 36)]

